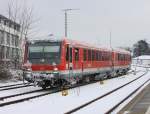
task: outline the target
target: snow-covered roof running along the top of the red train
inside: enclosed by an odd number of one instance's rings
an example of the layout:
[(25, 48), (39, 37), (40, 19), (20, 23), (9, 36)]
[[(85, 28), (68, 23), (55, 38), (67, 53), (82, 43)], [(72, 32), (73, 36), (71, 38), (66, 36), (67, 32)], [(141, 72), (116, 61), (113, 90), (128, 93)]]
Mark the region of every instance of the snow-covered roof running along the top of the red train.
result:
[(129, 51), (126, 51), (124, 49), (120, 48), (111, 48), (110, 46), (103, 46), (103, 45), (92, 45), (86, 42), (81, 42), (81, 41), (76, 41), (72, 39), (67, 39), (67, 38), (61, 38), (61, 37), (53, 37), (53, 36), (48, 36), (48, 37), (42, 37), (38, 38), (36, 40), (30, 40), (29, 42), (40, 42), (40, 41), (45, 41), (45, 42), (59, 42), (59, 41), (65, 41), (68, 44), (72, 44), (73, 46), (78, 46), (82, 48), (92, 48), (92, 49), (97, 49), (97, 50), (104, 50), (104, 51), (112, 51), (113, 52), (118, 52), (118, 53), (125, 53), (125, 54), (130, 54)]

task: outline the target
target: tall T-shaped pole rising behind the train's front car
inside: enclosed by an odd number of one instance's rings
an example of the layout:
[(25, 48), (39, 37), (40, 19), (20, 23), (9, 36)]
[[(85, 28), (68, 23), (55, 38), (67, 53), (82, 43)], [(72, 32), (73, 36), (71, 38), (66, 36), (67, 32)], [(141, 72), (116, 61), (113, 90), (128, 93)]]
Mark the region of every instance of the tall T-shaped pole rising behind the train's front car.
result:
[(68, 36), (68, 11), (79, 10), (79, 9), (63, 9), (65, 14), (65, 37)]

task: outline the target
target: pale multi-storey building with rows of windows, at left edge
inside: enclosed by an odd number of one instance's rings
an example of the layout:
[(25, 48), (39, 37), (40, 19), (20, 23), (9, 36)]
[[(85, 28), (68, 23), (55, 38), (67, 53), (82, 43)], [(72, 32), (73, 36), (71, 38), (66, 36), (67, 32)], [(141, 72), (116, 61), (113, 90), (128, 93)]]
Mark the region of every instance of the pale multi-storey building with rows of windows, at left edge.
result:
[(0, 15), (0, 64), (16, 68), (21, 63), (20, 25)]

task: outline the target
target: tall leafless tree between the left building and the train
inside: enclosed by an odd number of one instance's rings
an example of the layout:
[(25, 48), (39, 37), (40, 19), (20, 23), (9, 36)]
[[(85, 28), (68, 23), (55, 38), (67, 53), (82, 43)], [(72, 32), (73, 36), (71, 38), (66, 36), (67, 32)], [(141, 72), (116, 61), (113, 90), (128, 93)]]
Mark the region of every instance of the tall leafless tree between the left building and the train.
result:
[[(17, 22), (20, 25), (20, 32), (19, 32), (19, 45), (23, 48), (22, 45), (24, 45), (24, 42), (28, 40), (30, 35), (32, 34), (33, 25), (37, 22), (37, 19), (34, 19), (33, 15), (33, 7), (28, 7), (24, 1), (22, 3), (23, 5), (20, 5), (17, 0), (11, 0), (8, 3), (8, 17), (13, 22)], [(16, 34), (16, 31), (14, 29), (14, 34)], [(24, 55), (24, 50), (21, 51), (21, 57)], [(14, 62), (18, 62), (19, 60), (19, 54), (16, 54), (16, 57), (13, 58)], [(16, 63), (15, 63), (16, 64)]]

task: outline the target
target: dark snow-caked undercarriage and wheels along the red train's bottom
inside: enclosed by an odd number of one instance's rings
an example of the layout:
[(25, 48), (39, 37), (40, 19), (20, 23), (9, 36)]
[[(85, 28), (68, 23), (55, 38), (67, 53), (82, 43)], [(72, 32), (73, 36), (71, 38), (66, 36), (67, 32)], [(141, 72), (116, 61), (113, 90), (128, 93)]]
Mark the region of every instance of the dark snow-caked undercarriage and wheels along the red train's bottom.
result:
[(32, 71), (24, 71), (23, 79), (38, 85), (43, 89), (47, 87), (62, 87), (62, 86), (71, 86), (77, 83), (88, 83), (94, 80), (103, 80), (108, 78), (113, 78), (120, 75), (125, 75), (129, 67), (125, 69), (115, 69), (107, 70), (101, 72), (92, 72), (92, 73), (71, 73), (71, 74), (61, 74), (58, 72), (53, 73), (34, 73)]

